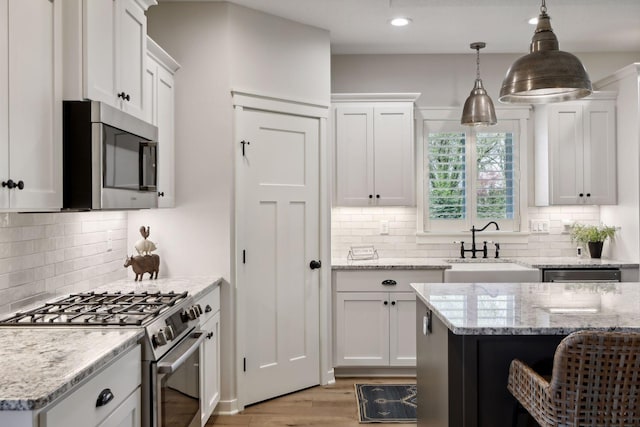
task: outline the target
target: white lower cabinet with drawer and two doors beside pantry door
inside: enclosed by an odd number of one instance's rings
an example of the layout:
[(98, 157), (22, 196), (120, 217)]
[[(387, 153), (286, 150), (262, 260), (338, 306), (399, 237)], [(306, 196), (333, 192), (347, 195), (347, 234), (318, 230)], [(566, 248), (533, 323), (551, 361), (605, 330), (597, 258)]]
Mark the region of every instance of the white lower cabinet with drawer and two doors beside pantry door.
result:
[(409, 284), (423, 282), (442, 282), (442, 270), (335, 271), (335, 366), (415, 367), (415, 293)]

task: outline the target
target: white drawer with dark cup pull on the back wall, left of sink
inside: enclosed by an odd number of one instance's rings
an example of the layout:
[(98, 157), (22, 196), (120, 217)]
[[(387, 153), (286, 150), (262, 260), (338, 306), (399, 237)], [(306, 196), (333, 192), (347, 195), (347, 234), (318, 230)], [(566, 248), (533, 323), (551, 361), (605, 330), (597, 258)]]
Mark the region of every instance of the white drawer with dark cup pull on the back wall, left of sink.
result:
[[(412, 292), (411, 283), (442, 283), (443, 270), (336, 271), (337, 292)], [(382, 282), (390, 281), (389, 285)], [(395, 282), (395, 285), (392, 284)]]

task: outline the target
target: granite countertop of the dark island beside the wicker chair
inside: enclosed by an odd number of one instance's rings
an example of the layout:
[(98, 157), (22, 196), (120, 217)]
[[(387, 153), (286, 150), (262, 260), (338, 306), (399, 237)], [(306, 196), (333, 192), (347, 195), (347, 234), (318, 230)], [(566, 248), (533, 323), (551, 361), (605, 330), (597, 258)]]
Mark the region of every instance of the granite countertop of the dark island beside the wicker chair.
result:
[(640, 331), (640, 283), (414, 283), (456, 335)]

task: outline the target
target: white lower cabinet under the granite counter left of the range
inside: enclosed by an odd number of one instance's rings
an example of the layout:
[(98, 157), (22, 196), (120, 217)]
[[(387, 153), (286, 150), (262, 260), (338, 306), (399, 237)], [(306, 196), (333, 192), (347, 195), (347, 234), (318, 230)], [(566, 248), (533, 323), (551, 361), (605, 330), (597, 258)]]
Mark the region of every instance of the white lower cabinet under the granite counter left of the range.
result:
[(138, 345), (45, 409), (39, 427), (140, 427), (140, 360)]

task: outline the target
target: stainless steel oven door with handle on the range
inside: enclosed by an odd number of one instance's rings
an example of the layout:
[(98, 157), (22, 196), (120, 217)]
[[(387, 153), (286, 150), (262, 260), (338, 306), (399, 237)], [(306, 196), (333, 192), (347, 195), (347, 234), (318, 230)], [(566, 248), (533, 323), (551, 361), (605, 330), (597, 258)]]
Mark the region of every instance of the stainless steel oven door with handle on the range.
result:
[(192, 332), (155, 365), (155, 427), (200, 427), (200, 347), (205, 335)]

